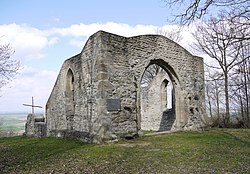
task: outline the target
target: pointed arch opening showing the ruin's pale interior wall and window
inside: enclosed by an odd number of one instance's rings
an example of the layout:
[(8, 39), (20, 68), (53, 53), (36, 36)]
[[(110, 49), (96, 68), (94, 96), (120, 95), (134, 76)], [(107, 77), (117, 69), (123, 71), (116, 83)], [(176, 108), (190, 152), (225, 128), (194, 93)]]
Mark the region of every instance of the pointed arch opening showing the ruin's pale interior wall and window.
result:
[(175, 121), (175, 93), (168, 72), (149, 65), (141, 80), (141, 129), (171, 130)]

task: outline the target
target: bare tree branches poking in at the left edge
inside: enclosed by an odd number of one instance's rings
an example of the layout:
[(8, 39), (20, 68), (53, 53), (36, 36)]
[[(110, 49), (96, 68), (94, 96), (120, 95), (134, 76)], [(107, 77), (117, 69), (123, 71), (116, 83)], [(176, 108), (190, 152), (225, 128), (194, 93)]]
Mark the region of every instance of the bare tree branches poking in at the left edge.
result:
[(0, 89), (18, 73), (20, 63), (11, 58), (14, 51), (7, 45), (0, 45)]

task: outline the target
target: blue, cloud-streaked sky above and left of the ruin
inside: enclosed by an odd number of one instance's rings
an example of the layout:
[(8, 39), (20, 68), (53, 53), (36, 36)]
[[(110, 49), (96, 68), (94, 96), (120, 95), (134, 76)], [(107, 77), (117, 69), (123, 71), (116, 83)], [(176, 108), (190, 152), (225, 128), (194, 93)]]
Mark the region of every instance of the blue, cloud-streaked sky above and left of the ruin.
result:
[(0, 113), (30, 112), (22, 104), (32, 96), (44, 107), (63, 61), (98, 30), (156, 34), (176, 27), (171, 13), (162, 0), (0, 0), (0, 44), (9, 43), (23, 67), (0, 91)]

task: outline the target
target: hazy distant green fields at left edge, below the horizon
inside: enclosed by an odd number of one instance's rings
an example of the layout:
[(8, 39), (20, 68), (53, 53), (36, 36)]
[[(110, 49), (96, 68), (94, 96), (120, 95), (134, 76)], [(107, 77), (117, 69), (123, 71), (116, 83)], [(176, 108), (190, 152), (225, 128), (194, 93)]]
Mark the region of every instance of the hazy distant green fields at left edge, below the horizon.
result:
[(0, 130), (2, 131), (22, 131), (25, 129), (27, 118), (26, 113), (0, 114)]

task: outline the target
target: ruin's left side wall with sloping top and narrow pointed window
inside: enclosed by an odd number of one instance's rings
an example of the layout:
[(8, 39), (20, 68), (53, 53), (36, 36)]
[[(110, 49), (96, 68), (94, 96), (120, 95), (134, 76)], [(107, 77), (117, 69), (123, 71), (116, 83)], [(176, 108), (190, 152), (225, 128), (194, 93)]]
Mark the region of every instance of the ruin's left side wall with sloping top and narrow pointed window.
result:
[[(92, 141), (91, 134), (96, 118), (96, 75), (94, 62), (98, 39), (90, 38), (83, 51), (66, 60), (46, 105), (47, 134), (62, 137), (79, 137)], [(72, 113), (67, 113), (67, 72), (74, 77)]]

